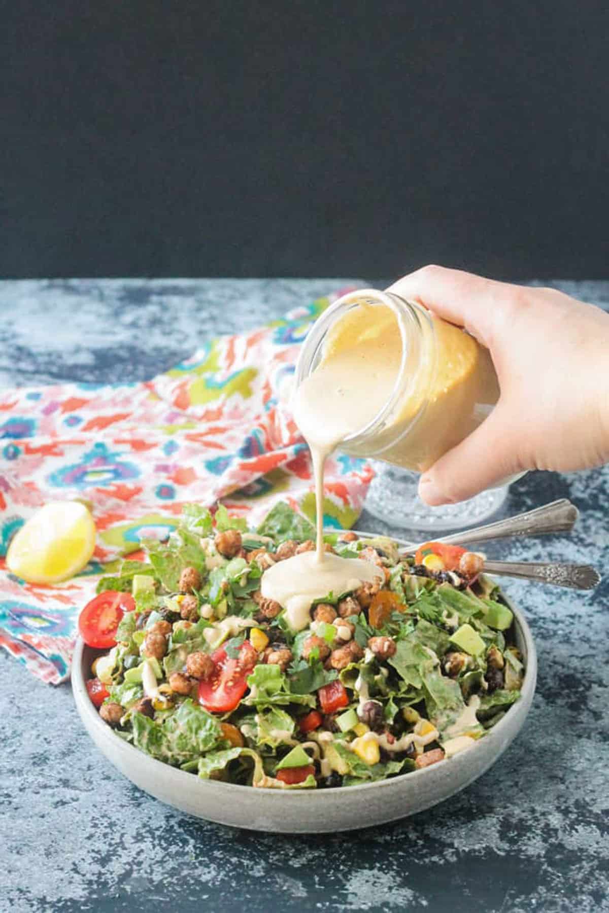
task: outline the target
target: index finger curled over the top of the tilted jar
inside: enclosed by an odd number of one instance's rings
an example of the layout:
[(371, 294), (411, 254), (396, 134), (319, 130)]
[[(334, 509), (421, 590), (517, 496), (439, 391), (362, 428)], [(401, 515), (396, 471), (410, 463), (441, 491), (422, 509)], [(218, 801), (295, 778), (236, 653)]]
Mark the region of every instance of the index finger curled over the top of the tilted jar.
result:
[(387, 291), (420, 301), (491, 348), (498, 320), (509, 321), (515, 287), (460, 269), (424, 267), (398, 279)]

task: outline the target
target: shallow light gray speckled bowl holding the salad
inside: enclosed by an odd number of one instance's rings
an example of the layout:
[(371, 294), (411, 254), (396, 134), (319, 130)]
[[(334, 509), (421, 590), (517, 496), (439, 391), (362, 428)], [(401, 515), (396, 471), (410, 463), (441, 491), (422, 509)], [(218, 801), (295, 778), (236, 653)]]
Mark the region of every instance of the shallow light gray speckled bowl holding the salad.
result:
[(192, 773), (155, 761), (115, 735), (100, 719), (85, 687), (91, 663), (100, 651), (80, 639), (72, 666), (74, 699), (85, 729), (106, 758), (136, 786), (182, 812), (219, 824), (283, 834), (321, 834), (384, 824), (422, 812), (464, 789), (497, 761), (522, 728), (535, 692), (537, 654), (529, 625), (509, 604), (516, 642), (526, 664), (520, 700), (473, 748), (392, 780), (319, 792), (254, 789), (199, 780)]

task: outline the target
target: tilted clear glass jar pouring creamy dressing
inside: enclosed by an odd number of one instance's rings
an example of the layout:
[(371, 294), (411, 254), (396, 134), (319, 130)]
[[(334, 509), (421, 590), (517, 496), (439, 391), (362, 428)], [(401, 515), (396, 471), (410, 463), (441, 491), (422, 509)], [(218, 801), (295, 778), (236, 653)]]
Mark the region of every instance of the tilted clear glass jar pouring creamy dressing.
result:
[[(299, 355), (296, 386), (315, 372), (337, 341), (341, 344), (343, 329), (350, 327), (352, 335), (354, 326), (358, 332), (360, 324), (362, 331), (372, 327), (377, 308), (383, 309), (383, 320), (394, 320), (401, 337), (393, 392), (372, 421), (343, 437), (340, 448), (423, 472), (471, 434), (499, 399), (490, 353), (466, 331), (394, 292), (350, 292), (313, 324)], [(356, 309), (366, 313), (360, 316)]]

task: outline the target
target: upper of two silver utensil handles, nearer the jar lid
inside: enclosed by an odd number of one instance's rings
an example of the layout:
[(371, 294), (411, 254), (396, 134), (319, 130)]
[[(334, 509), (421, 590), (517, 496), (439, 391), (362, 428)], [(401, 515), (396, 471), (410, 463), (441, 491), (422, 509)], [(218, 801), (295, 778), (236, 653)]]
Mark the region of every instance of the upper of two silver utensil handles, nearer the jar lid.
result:
[(550, 532), (571, 532), (580, 512), (567, 498), (560, 498), (541, 508), (528, 510), (516, 517), (498, 519), (494, 523), (478, 526), (473, 530), (453, 532), (438, 539), (428, 537), (422, 542), (408, 542), (400, 549), (402, 554), (412, 554), (425, 542), (446, 542), (447, 545), (467, 545), (508, 536), (541, 536)]

